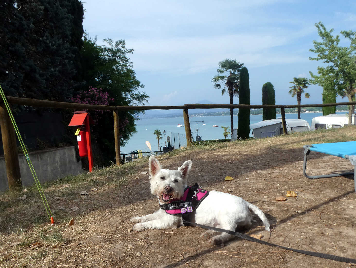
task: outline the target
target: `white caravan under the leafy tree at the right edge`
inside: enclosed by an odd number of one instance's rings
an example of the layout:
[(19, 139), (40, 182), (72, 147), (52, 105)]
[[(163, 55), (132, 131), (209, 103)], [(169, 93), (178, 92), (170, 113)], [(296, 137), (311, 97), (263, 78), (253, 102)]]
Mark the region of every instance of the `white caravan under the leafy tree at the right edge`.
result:
[[(355, 116), (352, 115), (351, 125), (355, 125)], [(312, 120), (311, 130), (316, 130), (320, 128), (340, 128), (349, 125), (349, 115), (348, 114), (330, 114), (314, 117)]]

